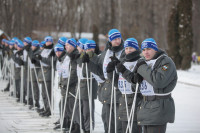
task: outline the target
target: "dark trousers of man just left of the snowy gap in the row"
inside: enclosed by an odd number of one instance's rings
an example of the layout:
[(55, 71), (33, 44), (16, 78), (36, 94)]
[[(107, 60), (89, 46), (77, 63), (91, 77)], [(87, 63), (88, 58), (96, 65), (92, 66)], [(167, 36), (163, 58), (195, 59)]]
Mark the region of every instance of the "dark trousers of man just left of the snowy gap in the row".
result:
[[(42, 98), (43, 98), (44, 106), (45, 106), (46, 111), (50, 111), (49, 102), (51, 104), (51, 82), (50, 81), (46, 82), (47, 92), (46, 92), (46, 89), (45, 89), (44, 82), (41, 82), (41, 84), (42, 84)], [(50, 101), (48, 101), (47, 93), (49, 95)]]

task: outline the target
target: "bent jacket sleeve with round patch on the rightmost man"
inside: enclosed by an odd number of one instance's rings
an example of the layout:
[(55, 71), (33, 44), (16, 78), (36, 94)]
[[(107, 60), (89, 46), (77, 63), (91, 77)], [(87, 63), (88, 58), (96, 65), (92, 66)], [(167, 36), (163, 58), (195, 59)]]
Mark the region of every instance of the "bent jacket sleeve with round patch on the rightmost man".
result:
[(138, 68), (138, 73), (154, 88), (164, 88), (172, 82), (176, 76), (176, 67), (171, 58), (165, 57), (152, 70), (147, 64)]

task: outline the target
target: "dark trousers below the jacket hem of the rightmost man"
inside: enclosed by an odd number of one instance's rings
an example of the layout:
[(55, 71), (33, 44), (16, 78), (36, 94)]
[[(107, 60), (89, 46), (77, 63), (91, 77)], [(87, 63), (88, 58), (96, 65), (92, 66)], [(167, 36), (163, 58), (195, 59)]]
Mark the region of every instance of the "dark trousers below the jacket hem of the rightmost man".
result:
[(167, 124), (144, 126), (144, 133), (165, 133)]

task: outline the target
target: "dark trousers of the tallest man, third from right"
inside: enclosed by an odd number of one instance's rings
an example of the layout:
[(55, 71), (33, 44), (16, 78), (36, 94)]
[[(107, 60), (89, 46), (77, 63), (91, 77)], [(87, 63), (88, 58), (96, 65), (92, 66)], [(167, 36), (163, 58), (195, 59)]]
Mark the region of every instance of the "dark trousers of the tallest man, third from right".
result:
[[(103, 120), (103, 124), (104, 124), (104, 130), (105, 133), (108, 133), (108, 129), (109, 129), (109, 119), (110, 119), (110, 104), (103, 104), (102, 107), (102, 120)], [(119, 104), (116, 104), (116, 116), (118, 116), (118, 107)], [(121, 133), (122, 132), (122, 127), (121, 127), (121, 121), (119, 121), (116, 118), (116, 123), (117, 123), (117, 131), (115, 132), (115, 117), (114, 117), (114, 106), (112, 106), (112, 111), (111, 111), (111, 124), (110, 124), (110, 133)]]

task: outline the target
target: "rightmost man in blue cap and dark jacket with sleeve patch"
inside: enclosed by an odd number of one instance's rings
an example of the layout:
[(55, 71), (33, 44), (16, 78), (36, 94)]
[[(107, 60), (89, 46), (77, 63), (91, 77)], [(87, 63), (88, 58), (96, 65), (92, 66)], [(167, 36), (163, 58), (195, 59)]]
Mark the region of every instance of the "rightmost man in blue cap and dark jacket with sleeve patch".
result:
[(138, 60), (129, 78), (140, 83), (143, 95), (137, 113), (138, 125), (144, 127), (144, 133), (165, 133), (167, 123), (173, 123), (175, 118), (171, 93), (177, 83), (176, 66), (152, 38), (145, 39), (141, 49), (144, 59)]

